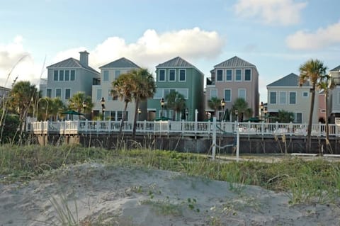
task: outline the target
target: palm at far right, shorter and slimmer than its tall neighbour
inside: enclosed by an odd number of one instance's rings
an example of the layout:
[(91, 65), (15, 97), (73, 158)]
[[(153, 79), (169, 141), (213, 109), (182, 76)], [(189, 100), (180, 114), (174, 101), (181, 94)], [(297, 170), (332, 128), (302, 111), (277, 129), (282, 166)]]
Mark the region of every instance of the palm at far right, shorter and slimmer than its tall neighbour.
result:
[(325, 128), (325, 132), (326, 132), (326, 145), (330, 147), (330, 143), (329, 143), (329, 125), (328, 125), (328, 96), (329, 96), (329, 91), (331, 89), (334, 89), (335, 84), (333, 79), (331, 78), (331, 76), (329, 74), (325, 74), (318, 82), (317, 87), (319, 89), (324, 90), (324, 103), (326, 105), (326, 128)]

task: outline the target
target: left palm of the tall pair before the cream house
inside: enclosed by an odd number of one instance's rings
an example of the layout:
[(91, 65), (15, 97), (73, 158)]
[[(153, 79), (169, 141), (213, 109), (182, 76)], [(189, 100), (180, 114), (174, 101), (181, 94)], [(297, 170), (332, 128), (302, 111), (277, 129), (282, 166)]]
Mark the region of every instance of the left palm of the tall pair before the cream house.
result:
[(112, 96), (118, 96), (121, 101), (124, 101), (124, 112), (120, 122), (119, 135), (123, 130), (123, 123), (125, 121), (126, 109), (128, 103), (132, 100), (132, 91), (137, 89), (135, 86), (134, 77), (131, 73), (120, 74), (120, 76), (112, 82), (113, 89), (111, 90)]

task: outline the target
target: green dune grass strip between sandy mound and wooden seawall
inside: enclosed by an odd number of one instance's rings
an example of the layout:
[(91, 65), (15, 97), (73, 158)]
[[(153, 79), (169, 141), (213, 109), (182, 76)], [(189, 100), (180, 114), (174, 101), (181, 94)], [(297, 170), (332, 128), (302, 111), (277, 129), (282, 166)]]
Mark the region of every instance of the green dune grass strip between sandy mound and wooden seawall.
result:
[(306, 161), (283, 157), (280, 162), (214, 162), (198, 154), (151, 149), (107, 150), (79, 145), (0, 147), (0, 181), (29, 181), (65, 164), (99, 162), (118, 166), (179, 171), (235, 185), (256, 185), (286, 192), (290, 203), (331, 203), (340, 194), (340, 163), (322, 157)]

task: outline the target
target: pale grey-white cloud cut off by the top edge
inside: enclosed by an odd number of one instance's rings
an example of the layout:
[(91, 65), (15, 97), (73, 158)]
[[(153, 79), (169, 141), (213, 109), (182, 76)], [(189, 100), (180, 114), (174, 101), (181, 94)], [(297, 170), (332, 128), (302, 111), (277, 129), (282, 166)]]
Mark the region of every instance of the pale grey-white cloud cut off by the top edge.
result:
[(259, 18), (271, 25), (289, 26), (300, 22), (300, 11), (307, 2), (293, 0), (238, 0), (234, 5), (237, 15), (245, 18)]

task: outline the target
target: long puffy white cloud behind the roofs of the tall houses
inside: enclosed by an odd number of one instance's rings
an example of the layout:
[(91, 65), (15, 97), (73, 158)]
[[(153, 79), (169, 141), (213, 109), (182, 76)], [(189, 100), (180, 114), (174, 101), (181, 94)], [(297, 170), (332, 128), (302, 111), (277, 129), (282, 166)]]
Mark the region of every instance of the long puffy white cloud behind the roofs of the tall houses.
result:
[[(125, 43), (120, 37), (110, 37), (98, 44), (90, 52), (89, 64), (98, 68), (103, 64), (126, 57), (140, 67), (147, 67), (151, 71), (157, 64), (173, 57), (183, 57), (191, 60), (203, 57), (216, 57), (222, 52), (224, 40), (215, 31), (200, 30), (200, 28), (175, 30), (166, 33), (157, 33), (156, 30), (146, 30), (135, 43)], [(85, 47), (62, 51), (57, 54), (54, 62), (69, 57), (79, 59), (79, 51)]]

